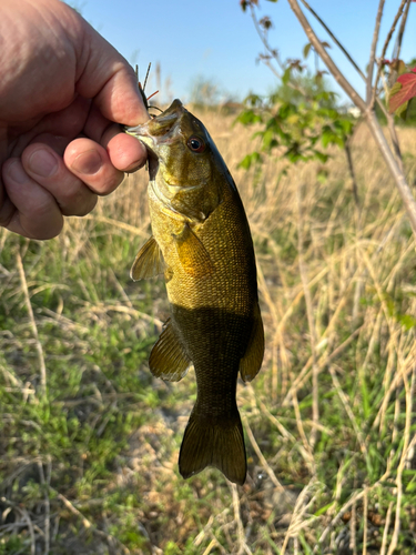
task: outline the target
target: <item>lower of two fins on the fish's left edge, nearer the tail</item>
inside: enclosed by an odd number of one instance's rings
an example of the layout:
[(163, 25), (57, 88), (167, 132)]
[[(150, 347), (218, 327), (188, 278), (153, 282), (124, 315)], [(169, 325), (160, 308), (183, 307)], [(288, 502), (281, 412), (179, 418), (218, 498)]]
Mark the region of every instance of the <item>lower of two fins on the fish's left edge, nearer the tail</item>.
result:
[(177, 339), (171, 319), (169, 319), (150, 353), (150, 370), (155, 377), (179, 382), (186, 374), (191, 364), (192, 361)]

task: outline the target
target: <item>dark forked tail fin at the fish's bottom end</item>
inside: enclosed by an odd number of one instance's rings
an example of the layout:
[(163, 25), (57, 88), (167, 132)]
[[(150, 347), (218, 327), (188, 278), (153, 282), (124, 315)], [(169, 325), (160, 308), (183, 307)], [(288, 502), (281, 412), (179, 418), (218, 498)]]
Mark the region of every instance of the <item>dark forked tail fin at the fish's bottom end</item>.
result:
[(244, 484), (247, 463), (239, 412), (221, 423), (191, 414), (179, 454), (179, 471), (189, 478), (205, 466), (215, 466), (231, 482)]

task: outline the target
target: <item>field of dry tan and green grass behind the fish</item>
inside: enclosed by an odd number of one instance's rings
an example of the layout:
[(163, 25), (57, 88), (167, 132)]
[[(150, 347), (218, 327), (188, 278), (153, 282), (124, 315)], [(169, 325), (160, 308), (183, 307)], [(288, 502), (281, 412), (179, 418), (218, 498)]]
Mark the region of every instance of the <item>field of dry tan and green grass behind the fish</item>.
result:
[[(366, 129), (343, 152), (282, 175), (237, 169), (253, 144), (202, 119), (251, 222), (266, 332), (239, 385), (242, 487), (183, 481), (193, 372), (152, 377), (168, 315), (162, 280), (133, 283), (150, 234), (146, 174), (59, 238), (0, 231), (0, 554), (414, 554), (415, 242)], [(409, 183), (416, 131), (402, 130)]]

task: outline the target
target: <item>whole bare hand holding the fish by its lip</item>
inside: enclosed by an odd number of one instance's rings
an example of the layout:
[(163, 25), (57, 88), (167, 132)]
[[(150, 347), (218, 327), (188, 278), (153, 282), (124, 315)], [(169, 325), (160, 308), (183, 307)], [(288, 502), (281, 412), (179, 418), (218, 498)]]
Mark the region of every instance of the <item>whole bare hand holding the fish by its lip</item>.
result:
[(149, 115), (129, 63), (59, 0), (1, 0), (0, 51), (0, 225), (50, 239), (145, 163), (119, 124)]

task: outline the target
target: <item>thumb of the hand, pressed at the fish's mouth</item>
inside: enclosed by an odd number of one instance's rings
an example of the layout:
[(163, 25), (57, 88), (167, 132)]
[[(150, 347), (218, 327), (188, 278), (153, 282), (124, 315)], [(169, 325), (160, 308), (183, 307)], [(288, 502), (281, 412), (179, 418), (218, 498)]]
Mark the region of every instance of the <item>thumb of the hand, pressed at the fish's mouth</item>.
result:
[(77, 92), (93, 99), (109, 120), (124, 125), (148, 121), (149, 113), (138, 88), (136, 75), (128, 61), (81, 17), (83, 41), (77, 49)]

